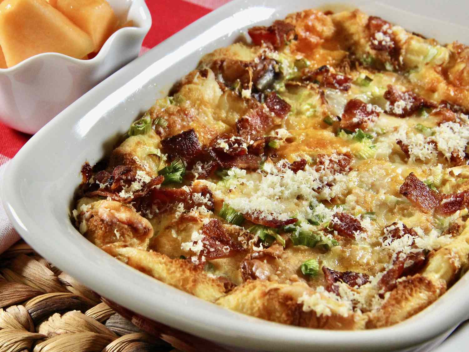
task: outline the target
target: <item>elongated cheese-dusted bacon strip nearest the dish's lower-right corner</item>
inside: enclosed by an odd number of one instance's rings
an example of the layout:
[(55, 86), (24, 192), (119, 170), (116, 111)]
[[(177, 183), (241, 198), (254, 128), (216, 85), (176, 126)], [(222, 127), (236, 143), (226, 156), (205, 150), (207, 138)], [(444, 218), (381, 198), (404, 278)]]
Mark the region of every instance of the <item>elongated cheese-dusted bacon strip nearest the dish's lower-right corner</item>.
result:
[(424, 251), (407, 256), (401, 252), (396, 253), (392, 268), (388, 269), (378, 281), (379, 296), (383, 298), (386, 292), (393, 291), (397, 286), (396, 280), (400, 277), (416, 274), (424, 266), (425, 260)]

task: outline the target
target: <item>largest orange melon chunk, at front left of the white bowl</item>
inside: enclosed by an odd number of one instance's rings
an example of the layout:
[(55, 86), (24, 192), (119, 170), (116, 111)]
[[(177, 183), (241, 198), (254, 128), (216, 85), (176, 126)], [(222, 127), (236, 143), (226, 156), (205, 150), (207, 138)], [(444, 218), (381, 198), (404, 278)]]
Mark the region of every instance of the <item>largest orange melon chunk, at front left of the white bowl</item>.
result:
[(80, 59), (93, 51), (90, 36), (45, 0), (0, 3), (0, 46), (8, 67), (41, 53)]

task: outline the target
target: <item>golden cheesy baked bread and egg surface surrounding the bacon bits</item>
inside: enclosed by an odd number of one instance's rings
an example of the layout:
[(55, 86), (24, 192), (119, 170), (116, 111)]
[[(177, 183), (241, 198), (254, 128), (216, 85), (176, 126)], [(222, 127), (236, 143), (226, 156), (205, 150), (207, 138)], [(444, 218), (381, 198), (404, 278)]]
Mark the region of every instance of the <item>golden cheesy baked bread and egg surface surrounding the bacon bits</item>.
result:
[[(132, 190), (142, 189), (169, 165), (161, 144), (165, 138), (194, 129), (201, 148), (211, 148), (221, 135), (238, 135), (237, 122), (259, 106), (272, 115), (272, 125), (255, 137), (277, 138), (275, 150), (257, 169), (233, 167), (223, 178), (213, 173), (199, 178), (205, 162), (199, 161), (187, 170), (190, 177), (182, 184), (154, 186), (206, 186), (212, 208), (204, 199), (189, 209), (175, 202), (164, 209), (137, 212), (132, 202), (84, 197), (74, 210), (77, 227), (95, 245), (148, 275), (271, 321), (371, 329), (398, 323), (430, 305), (467, 267), (467, 209), (444, 216), (424, 211), (401, 194), (400, 187), (414, 173), (441, 193), (469, 190), (465, 165), (469, 119), (463, 113), (469, 111), (469, 48), (457, 42), (441, 46), (392, 24), (372, 32), (371, 20), (358, 10), (332, 15), (306, 10), (285, 20), (296, 32), (286, 45), (275, 49), (265, 43), (237, 43), (204, 56), (198, 69), (175, 87), (171, 99), (159, 99), (149, 110), (153, 122), (164, 120), (164, 128), (131, 136), (113, 151), (110, 167), (133, 165), (140, 170), (134, 187), (125, 189), (130, 193), (123, 194), (132, 197)], [(378, 45), (396, 50), (378, 50)], [(256, 88), (259, 80), (252, 81), (260, 64), (269, 67), (268, 88)], [(349, 77), (348, 89), (320, 82), (321, 73), (315, 70), (324, 65), (336, 79)], [(389, 86), (403, 94), (415, 93), (430, 101), (432, 108), (396, 116), (416, 98), (390, 101)], [(264, 98), (255, 96), (256, 89), (276, 92), (291, 107), (288, 115), (271, 112)], [(340, 127), (352, 99), (361, 100), (368, 113), (378, 114), (365, 118), (361, 126), (366, 136), (361, 139), (357, 130)], [(442, 119), (442, 106), (448, 107), (445, 111), (451, 111), (454, 120)], [(246, 138), (246, 149), (256, 140)], [(228, 150), (226, 142), (218, 143)], [(334, 170), (344, 154), (352, 160), (349, 168)], [(327, 156), (326, 167), (318, 168), (322, 155)], [(455, 156), (463, 160), (458, 166)], [(286, 167), (301, 160), (306, 166), (297, 172)], [(203, 198), (201, 193), (189, 193), (191, 199)], [(295, 245), (292, 234), (282, 230), (278, 233), (285, 245), (279, 240), (268, 245), (250, 231), (254, 224), (249, 220), (236, 226), (220, 217), (223, 204), (266, 221), (296, 218), (297, 230), (321, 234), (338, 245), (326, 251)], [(353, 217), (361, 230), (341, 236), (333, 230), (334, 223), (340, 225), (334, 220), (337, 213)], [(204, 225), (213, 219), (244, 251), (212, 260), (200, 257), (206, 245)], [(404, 225), (416, 236), (386, 237), (389, 226), (402, 230)], [(425, 264), (383, 291), (380, 280), (396, 260), (417, 251), (424, 251)], [(310, 259), (318, 260), (319, 268), (351, 271), (369, 279), (356, 287), (338, 280), (337, 291), (331, 291), (321, 270), (303, 274), (302, 264)]]

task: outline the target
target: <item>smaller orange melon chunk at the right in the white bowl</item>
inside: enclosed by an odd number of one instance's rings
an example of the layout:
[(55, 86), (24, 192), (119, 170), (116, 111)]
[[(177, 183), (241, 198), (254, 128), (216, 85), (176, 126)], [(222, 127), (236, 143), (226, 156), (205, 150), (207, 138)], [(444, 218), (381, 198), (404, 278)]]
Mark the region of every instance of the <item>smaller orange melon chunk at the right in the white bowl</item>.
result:
[(117, 17), (106, 0), (57, 0), (57, 9), (91, 36), (95, 52), (117, 27)]

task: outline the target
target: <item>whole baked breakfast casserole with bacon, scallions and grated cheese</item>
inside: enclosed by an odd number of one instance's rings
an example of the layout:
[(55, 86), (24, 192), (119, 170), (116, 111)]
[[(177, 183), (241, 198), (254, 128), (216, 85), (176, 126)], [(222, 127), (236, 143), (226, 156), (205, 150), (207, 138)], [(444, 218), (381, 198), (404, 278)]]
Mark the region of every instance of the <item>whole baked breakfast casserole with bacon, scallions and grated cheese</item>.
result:
[(422, 311), (468, 266), (469, 47), (359, 10), (248, 34), (83, 165), (76, 228), (269, 321), (372, 329)]

